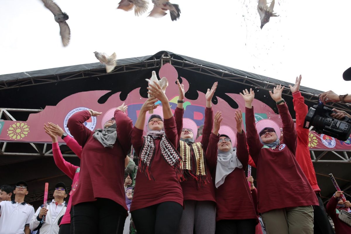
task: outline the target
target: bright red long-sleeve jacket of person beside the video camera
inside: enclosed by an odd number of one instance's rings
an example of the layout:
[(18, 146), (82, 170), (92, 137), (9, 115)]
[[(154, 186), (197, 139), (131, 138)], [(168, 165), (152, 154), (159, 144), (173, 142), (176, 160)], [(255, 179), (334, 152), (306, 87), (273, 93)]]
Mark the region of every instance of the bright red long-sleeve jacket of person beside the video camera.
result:
[[(319, 192), (320, 188), (317, 184), (316, 172), (314, 172), (313, 163), (310, 156), (309, 143), (309, 129), (304, 128), (305, 116), (308, 112), (308, 107), (304, 102), (304, 97), (300, 91), (293, 93), (294, 110), (296, 112), (296, 132), (297, 132), (297, 146), (296, 146), (296, 160), (299, 163), (302, 171), (305, 173), (307, 180), (310, 182), (314, 192)], [(283, 132), (284, 133), (284, 132)], [(285, 133), (284, 133), (285, 134)]]

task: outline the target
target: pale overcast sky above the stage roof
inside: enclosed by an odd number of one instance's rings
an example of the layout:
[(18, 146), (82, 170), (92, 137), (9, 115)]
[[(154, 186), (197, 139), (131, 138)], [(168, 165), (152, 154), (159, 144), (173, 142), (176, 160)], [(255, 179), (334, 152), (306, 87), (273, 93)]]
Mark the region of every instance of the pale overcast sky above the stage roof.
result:
[(137, 17), (116, 9), (119, 0), (57, 0), (69, 15), (65, 48), (42, 1), (0, 0), (0, 74), (97, 62), (94, 51), (123, 59), (167, 50), (289, 82), (302, 74), (303, 86), (351, 93), (342, 79), (351, 66), (351, 1), (277, 0), (280, 16), (262, 30), (257, 0), (171, 2), (178, 21)]

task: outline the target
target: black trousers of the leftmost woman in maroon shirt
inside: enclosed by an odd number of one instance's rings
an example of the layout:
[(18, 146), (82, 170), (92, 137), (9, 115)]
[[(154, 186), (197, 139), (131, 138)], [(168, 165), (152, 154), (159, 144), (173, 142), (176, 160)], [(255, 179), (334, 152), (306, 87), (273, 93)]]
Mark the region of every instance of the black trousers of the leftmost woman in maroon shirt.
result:
[(118, 203), (98, 198), (71, 209), (71, 234), (122, 234), (127, 211)]

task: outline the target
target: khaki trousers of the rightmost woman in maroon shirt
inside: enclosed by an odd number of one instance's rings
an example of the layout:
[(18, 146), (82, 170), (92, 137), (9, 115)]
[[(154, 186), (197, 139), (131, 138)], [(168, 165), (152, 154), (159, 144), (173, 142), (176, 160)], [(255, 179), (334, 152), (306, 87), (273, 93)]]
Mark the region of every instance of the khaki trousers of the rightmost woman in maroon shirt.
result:
[(261, 214), (267, 234), (313, 234), (313, 207), (274, 209)]

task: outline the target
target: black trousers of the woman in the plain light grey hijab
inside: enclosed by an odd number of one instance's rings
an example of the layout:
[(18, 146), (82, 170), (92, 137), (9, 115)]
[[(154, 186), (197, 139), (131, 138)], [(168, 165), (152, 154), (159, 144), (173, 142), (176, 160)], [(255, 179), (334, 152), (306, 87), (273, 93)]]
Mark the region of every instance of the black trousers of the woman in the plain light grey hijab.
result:
[(256, 225), (256, 219), (219, 220), (216, 234), (255, 234)]

